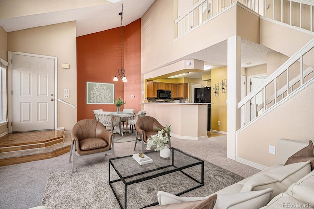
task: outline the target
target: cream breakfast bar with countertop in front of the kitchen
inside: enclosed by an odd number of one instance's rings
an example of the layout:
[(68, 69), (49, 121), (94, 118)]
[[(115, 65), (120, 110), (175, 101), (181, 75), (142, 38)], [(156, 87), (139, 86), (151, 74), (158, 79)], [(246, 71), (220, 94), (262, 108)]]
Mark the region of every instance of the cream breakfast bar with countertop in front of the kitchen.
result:
[(171, 125), (171, 136), (179, 139), (207, 139), (208, 104), (213, 103), (141, 103), (146, 116), (161, 125)]

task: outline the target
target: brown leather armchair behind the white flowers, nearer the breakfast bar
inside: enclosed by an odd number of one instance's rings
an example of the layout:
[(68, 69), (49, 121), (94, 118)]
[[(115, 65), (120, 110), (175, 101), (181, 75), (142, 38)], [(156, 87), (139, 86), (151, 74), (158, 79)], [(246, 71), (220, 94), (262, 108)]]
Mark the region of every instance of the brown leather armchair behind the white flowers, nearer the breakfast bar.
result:
[[(162, 126), (153, 117), (144, 116), (144, 117), (139, 118), (136, 122), (136, 125), (135, 125), (135, 129), (136, 129), (137, 133), (136, 133), (134, 150), (135, 150), (136, 144), (138, 142), (138, 143), (142, 144), (141, 151), (143, 153), (144, 142), (147, 143), (147, 139), (149, 139), (151, 137), (151, 135), (155, 135), (158, 133), (157, 128), (165, 130), (166, 127)], [(166, 130), (165, 130), (165, 132), (166, 132)], [(140, 136), (140, 138), (138, 138), (138, 135)], [(169, 144), (169, 147), (171, 147), (170, 137), (169, 137), (168, 144)]]

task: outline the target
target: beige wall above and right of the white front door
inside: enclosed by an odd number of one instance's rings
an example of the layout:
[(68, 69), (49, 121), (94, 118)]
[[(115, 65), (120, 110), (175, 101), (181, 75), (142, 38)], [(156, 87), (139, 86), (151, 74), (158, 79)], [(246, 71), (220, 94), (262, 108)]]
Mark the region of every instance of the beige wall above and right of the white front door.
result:
[[(8, 51), (55, 56), (58, 58), (58, 97), (63, 89), (69, 89), (70, 98), (64, 99), (76, 105), (76, 22), (36, 27), (8, 33)], [(67, 63), (70, 69), (62, 69)], [(58, 127), (71, 130), (76, 123), (76, 109), (58, 102)]]

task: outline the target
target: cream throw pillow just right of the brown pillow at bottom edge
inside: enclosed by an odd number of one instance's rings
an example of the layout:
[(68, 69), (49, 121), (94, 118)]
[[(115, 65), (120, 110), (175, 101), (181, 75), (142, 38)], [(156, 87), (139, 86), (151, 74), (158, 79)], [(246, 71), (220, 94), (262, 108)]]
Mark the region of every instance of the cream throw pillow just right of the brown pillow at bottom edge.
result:
[(262, 191), (218, 194), (214, 209), (259, 209), (270, 200), (273, 188)]

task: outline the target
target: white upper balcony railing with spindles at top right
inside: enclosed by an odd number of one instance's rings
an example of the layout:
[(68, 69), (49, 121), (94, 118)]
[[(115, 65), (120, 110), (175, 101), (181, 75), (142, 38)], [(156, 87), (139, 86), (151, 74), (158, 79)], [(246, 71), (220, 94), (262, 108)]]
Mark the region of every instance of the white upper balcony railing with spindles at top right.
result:
[(261, 16), (313, 32), (313, 0), (200, 0), (175, 20), (177, 38), (239, 2)]

